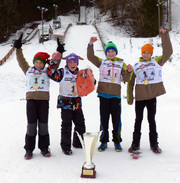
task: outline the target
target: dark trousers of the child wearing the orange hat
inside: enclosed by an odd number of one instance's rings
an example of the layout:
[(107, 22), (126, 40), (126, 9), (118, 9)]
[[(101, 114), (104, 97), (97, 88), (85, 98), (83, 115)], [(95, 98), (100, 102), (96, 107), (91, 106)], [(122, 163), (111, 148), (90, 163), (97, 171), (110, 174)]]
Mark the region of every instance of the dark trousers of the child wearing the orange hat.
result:
[(135, 125), (134, 125), (134, 133), (133, 133), (133, 143), (137, 146), (140, 143), (140, 136), (141, 136), (141, 124), (143, 120), (143, 112), (144, 108), (147, 108), (147, 118), (149, 122), (149, 138), (150, 144), (154, 145), (157, 144), (157, 131), (156, 131), (156, 98), (151, 100), (143, 100), (143, 101), (136, 101), (135, 103)]

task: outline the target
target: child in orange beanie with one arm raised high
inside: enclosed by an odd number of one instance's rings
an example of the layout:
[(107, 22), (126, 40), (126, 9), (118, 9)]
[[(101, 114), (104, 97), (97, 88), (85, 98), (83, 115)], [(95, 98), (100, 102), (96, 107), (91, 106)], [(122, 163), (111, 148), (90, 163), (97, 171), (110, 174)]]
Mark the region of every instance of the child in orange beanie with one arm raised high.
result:
[(139, 62), (134, 65), (134, 71), (131, 73), (131, 79), (127, 88), (128, 104), (133, 103), (133, 87), (135, 85), (135, 125), (133, 132), (132, 145), (129, 152), (139, 150), (141, 138), (141, 123), (143, 120), (144, 108), (147, 108), (149, 122), (149, 141), (153, 152), (161, 153), (158, 146), (158, 133), (156, 130), (156, 97), (165, 93), (165, 88), (162, 80), (162, 66), (172, 54), (172, 45), (169, 34), (166, 30), (160, 29), (162, 39), (163, 55), (157, 58), (152, 58), (153, 46), (145, 44), (142, 46), (142, 57)]

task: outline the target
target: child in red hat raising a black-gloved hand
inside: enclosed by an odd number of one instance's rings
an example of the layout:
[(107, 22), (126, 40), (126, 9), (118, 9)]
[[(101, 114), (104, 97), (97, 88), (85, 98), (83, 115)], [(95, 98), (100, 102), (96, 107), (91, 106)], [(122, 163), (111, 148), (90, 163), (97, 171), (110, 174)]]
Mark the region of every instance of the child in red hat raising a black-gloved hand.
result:
[(48, 113), (49, 113), (49, 78), (45, 67), (49, 54), (38, 52), (33, 59), (34, 66), (30, 67), (26, 62), (22, 52), (22, 36), (15, 41), (16, 56), (19, 66), (26, 75), (27, 83), (27, 132), (25, 136), (25, 159), (33, 157), (35, 149), (36, 134), (38, 126), (38, 148), (45, 157), (50, 157), (50, 140), (48, 132)]

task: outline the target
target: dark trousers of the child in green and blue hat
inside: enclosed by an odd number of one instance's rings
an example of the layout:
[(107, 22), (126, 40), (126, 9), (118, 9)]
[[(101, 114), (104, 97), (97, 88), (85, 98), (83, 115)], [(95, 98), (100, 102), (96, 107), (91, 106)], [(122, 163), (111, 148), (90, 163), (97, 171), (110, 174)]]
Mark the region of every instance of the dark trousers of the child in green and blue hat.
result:
[(109, 117), (112, 117), (113, 124), (113, 142), (121, 142), (121, 99), (118, 98), (103, 98), (100, 99), (100, 130), (102, 135), (100, 137), (101, 142), (109, 142)]

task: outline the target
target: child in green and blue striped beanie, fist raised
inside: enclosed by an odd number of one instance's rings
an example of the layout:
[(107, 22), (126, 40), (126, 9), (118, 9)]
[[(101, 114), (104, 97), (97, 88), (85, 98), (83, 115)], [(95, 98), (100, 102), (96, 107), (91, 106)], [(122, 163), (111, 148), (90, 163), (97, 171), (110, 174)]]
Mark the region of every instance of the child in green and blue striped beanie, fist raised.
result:
[(96, 37), (91, 37), (87, 48), (87, 58), (99, 68), (100, 79), (97, 93), (100, 100), (100, 137), (99, 151), (104, 151), (109, 142), (109, 117), (112, 116), (113, 142), (117, 152), (122, 151), (121, 139), (121, 76), (127, 82), (130, 78), (132, 66), (127, 65), (122, 59), (116, 57), (118, 50), (114, 43), (109, 42), (105, 46), (106, 59), (100, 59), (94, 55), (93, 43)]

